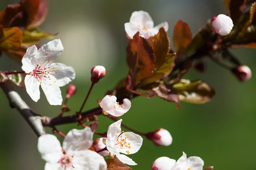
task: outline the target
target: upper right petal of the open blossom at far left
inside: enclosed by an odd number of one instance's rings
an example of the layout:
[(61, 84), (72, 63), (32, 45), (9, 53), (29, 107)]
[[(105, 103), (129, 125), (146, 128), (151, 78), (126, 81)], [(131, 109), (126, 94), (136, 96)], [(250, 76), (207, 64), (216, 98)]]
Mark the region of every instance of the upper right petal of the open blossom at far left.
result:
[(47, 62), (48, 59), (50, 61), (55, 61), (58, 56), (63, 52), (63, 50), (64, 48), (60, 39), (52, 40), (47, 44), (41, 46), (35, 58), (38, 61), (41, 61), (42, 64)]

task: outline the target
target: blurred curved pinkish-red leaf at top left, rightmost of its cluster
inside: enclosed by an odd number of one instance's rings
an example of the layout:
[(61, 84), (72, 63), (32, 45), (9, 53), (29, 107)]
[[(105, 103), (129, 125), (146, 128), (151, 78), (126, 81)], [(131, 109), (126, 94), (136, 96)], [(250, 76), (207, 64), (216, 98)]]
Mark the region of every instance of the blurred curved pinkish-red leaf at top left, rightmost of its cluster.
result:
[(31, 23), (29, 23), (29, 25), (27, 26), (27, 29), (37, 28), (38, 26), (40, 26), (44, 22), (47, 16), (47, 12), (48, 12), (47, 0), (40, 0), (38, 13), (36, 14), (34, 20)]

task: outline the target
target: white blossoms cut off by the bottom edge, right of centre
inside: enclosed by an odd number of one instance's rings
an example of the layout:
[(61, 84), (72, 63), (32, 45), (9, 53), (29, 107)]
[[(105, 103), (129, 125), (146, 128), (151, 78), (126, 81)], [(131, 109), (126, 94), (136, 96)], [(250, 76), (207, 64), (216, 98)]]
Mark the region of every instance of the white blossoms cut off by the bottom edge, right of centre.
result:
[(186, 153), (183, 152), (183, 156), (180, 159), (170, 159), (168, 157), (160, 157), (156, 159), (151, 166), (152, 170), (203, 170), (204, 161), (198, 156), (186, 157)]

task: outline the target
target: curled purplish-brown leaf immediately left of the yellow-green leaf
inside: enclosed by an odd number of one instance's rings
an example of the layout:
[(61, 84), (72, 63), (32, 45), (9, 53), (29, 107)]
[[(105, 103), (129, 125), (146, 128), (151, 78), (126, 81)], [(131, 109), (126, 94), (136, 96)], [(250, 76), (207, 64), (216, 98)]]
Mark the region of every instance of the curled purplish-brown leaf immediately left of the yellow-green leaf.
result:
[(157, 88), (154, 88), (154, 91), (156, 92), (158, 97), (168, 102), (176, 102), (177, 109), (180, 108), (179, 95), (177, 94), (177, 91), (175, 91), (175, 89), (172, 87), (172, 85), (162, 84), (159, 85)]

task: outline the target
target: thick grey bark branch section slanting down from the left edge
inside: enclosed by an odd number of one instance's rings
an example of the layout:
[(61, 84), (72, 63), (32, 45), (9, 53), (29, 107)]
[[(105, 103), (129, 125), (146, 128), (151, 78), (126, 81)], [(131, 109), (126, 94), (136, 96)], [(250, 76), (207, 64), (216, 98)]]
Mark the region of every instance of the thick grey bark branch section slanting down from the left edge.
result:
[(46, 134), (46, 131), (41, 122), (41, 116), (34, 113), (28, 105), (21, 99), (20, 95), (13, 89), (9, 82), (0, 83), (0, 87), (9, 99), (12, 108), (16, 108), (23, 116), (35, 134), (39, 137)]

